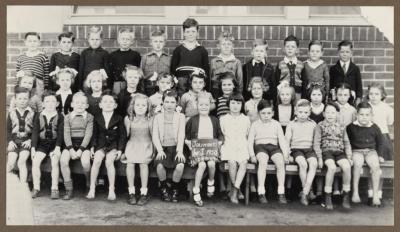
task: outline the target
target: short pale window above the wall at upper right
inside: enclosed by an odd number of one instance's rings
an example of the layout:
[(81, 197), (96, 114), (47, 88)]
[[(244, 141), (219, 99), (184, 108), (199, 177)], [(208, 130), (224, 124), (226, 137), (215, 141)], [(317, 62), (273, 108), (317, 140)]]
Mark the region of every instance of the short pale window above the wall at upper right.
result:
[(357, 6), (311, 6), (310, 16), (360, 16), (361, 8)]

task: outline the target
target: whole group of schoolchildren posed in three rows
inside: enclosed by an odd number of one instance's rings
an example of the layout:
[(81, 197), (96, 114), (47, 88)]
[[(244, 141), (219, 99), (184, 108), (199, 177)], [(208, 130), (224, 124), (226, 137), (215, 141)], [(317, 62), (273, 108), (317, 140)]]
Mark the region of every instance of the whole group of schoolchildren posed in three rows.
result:
[[(215, 195), (217, 176), (220, 192), (237, 204), (249, 162), (257, 164), (251, 191), (267, 203), (265, 179), (272, 162), (278, 201), (285, 204), (292, 182), (290, 176), (285, 182), (285, 165), (294, 162), (302, 186), (300, 202), (308, 205), (324, 192), (331, 210), (333, 193), (342, 194), (344, 208), (350, 208), (350, 200), (360, 203), (365, 162), (371, 171), (368, 197), (372, 205), (381, 205), (380, 163), (392, 159), (388, 127), (394, 113), (383, 101), (386, 92), (380, 83), (371, 83), (363, 99), (350, 41), (339, 43), (339, 60), (329, 68), (321, 59), (320, 41), (310, 42), (309, 58), (303, 62), (296, 57), (299, 40), (290, 35), (283, 41), (285, 57), (274, 68), (267, 61), (267, 42), (255, 40), (252, 58), (242, 66), (229, 32), (222, 32), (220, 54), (209, 62), (207, 50), (197, 42), (198, 29), (194, 19), (183, 23), (184, 40), (172, 57), (164, 51), (166, 36), (160, 29), (151, 34), (152, 51), (142, 56), (130, 49), (134, 38), (126, 28), (118, 32), (119, 49), (110, 54), (101, 47), (99, 28), (90, 28), (89, 48), (80, 55), (72, 51), (73, 34), (66, 32), (58, 36), (60, 51), (50, 61), (39, 50), (39, 34), (27, 33), (7, 117), (7, 171), (17, 164), (21, 182), (27, 182), (31, 157), (32, 197), (37, 197), (40, 165), (50, 157), (51, 198), (60, 198), (61, 169), (62, 198), (68, 200), (73, 197), (69, 163), (80, 159), (89, 189), (86, 198), (93, 199), (105, 160), (108, 200), (113, 201), (114, 165), (121, 161), (126, 163), (129, 204), (144, 205), (151, 165), (162, 200), (177, 202), (184, 168), (190, 164), (196, 168), (193, 200), (202, 206), (206, 170), (207, 197)], [(219, 152), (192, 153), (192, 140), (197, 139), (218, 140)], [(218, 172), (220, 161), (228, 163), (228, 178)], [(341, 190), (334, 177), (337, 166), (343, 173)], [(323, 167), (325, 179), (315, 177)], [(167, 171), (173, 172), (172, 182), (167, 182)]]

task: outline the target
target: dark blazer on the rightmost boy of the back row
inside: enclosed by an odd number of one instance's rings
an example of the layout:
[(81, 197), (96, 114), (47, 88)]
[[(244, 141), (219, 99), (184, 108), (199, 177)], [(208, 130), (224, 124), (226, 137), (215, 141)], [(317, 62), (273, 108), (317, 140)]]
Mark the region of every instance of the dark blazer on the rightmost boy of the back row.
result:
[[(356, 92), (356, 98), (362, 99), (363, 96), (363, 87), (361, 81), (361, 73), (360, 69), (357, 65), (350, 61), (349, 68), (347, 72), (344, 73), (343, 68), (340, 66), (340, 61), (329, 69), (329, 77), (330, 83), (329, 86), (331, 89), (336, 88), (340, 83), (348, 83), (351, 86), (351, 89)], [(351, 97), (349, 102), (353, 102), (355, 99)]]

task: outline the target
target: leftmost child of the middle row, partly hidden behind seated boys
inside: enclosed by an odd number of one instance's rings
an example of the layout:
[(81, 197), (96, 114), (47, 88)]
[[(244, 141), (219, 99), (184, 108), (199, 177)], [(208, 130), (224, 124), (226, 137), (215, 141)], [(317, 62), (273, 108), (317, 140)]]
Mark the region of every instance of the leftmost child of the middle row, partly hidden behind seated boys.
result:
[[(41, 112), (43, 109), (42, 106), (42, 100), (40, 97), (34, 93), (35, 90), (35, 76), (33, 75), (32, 71), (25, 70), (23, 72), (20, 72), (21, 77), (19, 78), (17, 86), (26, 88), (30, 92), (30, 98), (29, 98), (29, 107), (35, 112)], [(10, 108), (9, 110), (14, 110), (16, 107), (15, 105), (15, 96), (11, 98), (10, 100)]]

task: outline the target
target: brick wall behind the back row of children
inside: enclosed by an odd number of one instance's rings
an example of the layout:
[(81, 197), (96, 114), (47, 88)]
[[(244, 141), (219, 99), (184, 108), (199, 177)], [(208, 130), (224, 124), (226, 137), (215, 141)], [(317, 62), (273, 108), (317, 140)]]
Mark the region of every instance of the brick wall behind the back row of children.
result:
[[(136, 41), (133, 49), (146, 53), (150, 49), (149, 36), (158, 26), (154, 25), (101, 25), (104, 32), (103, 47), (108, 51), (117, 49), (116, 41), (119, 27), (129, 26), (135, 31)], [(64, 25), (64, 30), (72, 31), (77, 39), (75, 50), (81, 52), (86, 46), (86, 32), (90, 25)], [(167, 34), (166, 48), (171, 54), (183, 39), (180, 25), (160, 26)], [(359, 65), (364, 87), (371, 81), (383, 82), (388, 92), (387, 102), (393, 103), (394, 93), (394, 47), (377, 28), (373, 26), (214, 26), (200, 27), (199, 41), (209, 52), (210, 59), (219, 54), (217, 38), (222, 30), (230, 30), (235, 41), (235, 55), (242, 62), (250, 58), (252, 40), (264, 38), (268, 40), (268, 60), (273, 65), (283, 58), (283, 39), (294, 34), (300, 39), (300, 59), (307, 58), (307, 45), (311, 39), (324, 42), (323, 59), (328, 64), (337, 61), (337, 44), (340, 40), (354, 41), (354, 62)], [(57, 51), (57, 35), (59, 32), (42, 34), (42, 47), (46, 54)], [(13, 92), (15, 84), (15, 64), (19, 54), (24, 51), (23, 34), (7, 35), (7, 93)]]

